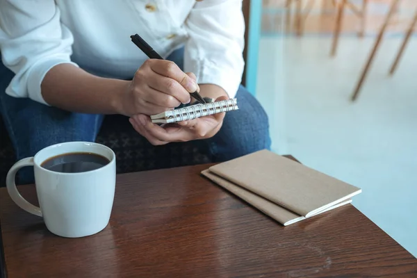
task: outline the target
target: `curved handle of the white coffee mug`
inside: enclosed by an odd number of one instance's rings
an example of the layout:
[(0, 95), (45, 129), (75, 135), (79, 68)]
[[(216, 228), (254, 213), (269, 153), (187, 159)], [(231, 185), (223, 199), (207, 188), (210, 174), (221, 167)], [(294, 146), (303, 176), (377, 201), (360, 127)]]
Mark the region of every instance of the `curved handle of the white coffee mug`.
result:
[(20, 168), (25, 166), (33, 166), (33, 157), (23, 158), (22, 160), (17, 161), (17, 163), (15, 163), (15, 165), (13, 165), (10, 168), (6, 177), (7, 191), (10, 197), (13, 199), (13, 201), (17, 204), (17, 206), (20, 206), (28, 213), (32, 213), (34, 215), (42, 217), (42, 211), (40, 210), (40, 208), (38, 206), (33, 206), (33, 204), (26, 201), (26, 199), (24, 199), (24, 197), (22, 197), (22, 195), (20, 195), (19, 191), (17, 190), (15, 177), (17, 171), (19, 171)]

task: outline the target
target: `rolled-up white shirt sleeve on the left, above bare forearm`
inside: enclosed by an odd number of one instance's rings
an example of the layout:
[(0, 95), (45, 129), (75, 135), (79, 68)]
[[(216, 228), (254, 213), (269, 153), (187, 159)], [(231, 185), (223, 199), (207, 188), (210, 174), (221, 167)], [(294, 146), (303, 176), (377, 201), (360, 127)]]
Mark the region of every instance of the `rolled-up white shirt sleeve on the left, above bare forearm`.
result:
[(1, 58), (15, 73), (6, 93), (47, 104), (40, 90), (42, 80), (51, 67), (72, 63), (73, 42), (70, 30), (60, 23), (55, 1), (1, 0)]

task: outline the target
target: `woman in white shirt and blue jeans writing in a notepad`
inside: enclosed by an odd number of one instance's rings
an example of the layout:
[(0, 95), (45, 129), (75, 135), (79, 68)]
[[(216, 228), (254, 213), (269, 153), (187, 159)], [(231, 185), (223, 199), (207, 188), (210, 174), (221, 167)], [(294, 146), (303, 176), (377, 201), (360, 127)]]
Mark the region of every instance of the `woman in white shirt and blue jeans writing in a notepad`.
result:
[[(217, 161), (268, 149), (265, 112), (240, 85), (241, 2), (0, 0), (0, 111), (17, 159), (94, 141), (110, 114), (129, 117), (152, 145), (204, 139)], [(135, 33), (167, 60), (148, 59)], [(240, 110), (165, 128), (150, 122), (193, 102), (198, 89), (216, 101), (236, 97)]]

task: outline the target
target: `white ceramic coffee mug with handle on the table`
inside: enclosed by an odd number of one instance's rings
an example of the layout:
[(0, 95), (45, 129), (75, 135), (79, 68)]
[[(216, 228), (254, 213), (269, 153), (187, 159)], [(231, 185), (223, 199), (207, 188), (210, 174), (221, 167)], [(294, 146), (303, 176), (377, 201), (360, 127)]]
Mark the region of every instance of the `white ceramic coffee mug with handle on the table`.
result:
[[(42, 167), (49, 158), (84, 152), (104, 156), (110, 163), (88, 172), (54, 172)], [(17, 171), (33, 165), (39, 205), (33, 206), (16, 188)], [(41, 149), (10, 168), (6, 184), (13, 201), (29, 213), (43, 217), (47, 229), (67, 238), (90, 236), (110, 220), (115, 196), (116, 162), (112, 149), (93, 142), (65, 142)]]

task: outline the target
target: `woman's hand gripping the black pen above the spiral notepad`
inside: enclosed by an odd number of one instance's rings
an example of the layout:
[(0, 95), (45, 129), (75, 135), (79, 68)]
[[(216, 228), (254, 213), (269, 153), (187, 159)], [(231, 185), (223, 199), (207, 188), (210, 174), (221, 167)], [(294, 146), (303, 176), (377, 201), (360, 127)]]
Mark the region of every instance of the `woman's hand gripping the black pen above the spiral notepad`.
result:
[(190, 92), (199, 87), (193, 73), (183, 72), (169, 60), (149, 59), (136, 71), (121, 95), (121, 111), (126, 116), (155, 115), (190, 102)]

